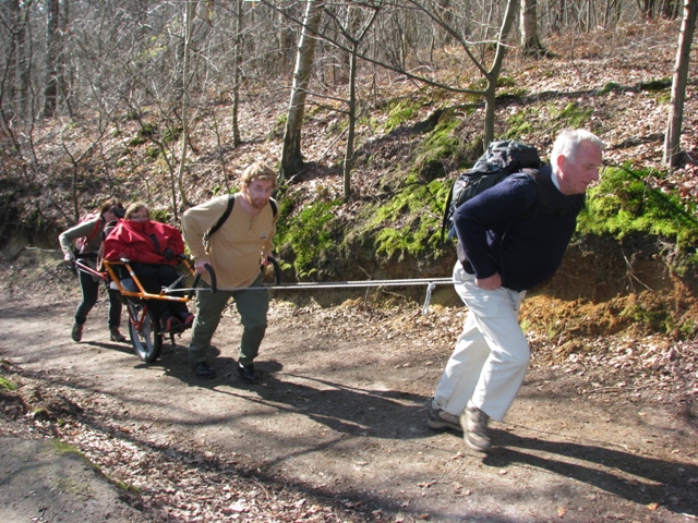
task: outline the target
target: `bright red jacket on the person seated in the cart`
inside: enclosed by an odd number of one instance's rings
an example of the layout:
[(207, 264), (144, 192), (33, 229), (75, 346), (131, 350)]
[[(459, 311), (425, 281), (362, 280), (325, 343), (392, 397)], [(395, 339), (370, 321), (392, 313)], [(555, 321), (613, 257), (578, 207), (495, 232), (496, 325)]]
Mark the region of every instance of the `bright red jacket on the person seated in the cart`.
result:
[(168, 260), (164, 256), (168, 248), (174, 256), (184, 253), (182, 234), (176, 228), (153, 220), (120, 220), (105, 240), (105, 258), (177, 265), (177, 259)]

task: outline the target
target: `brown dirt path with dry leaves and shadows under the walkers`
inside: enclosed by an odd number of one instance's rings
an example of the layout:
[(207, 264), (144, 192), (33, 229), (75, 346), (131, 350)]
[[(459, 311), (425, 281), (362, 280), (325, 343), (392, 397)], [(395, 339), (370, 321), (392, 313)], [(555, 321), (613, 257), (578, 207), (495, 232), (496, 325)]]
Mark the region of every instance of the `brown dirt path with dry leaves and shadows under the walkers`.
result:
[[(8, 292), (0, 299), (4, 374), (53, 404), (62, 401), (58, 417), (69, 422), (45, 426), (137, 495), (118, 500), (118, 510), (113, 499), (89, 492), (73, 507), (56, 504), (27, 494), (41, 470), (27, 466), (1, 481), (2, 521), (29, 521), (32, 510), (36, 518), (47, 508), (53, 519), (34, 521), (70, 521), (65, 511), (87, 501), (119, 521), (134, 499), (142, 521), (291, 521), (291, 509), (309, 521), (698, 516), (695, 413), (682, 417), (671, 402), (652, 401), (651, 391), (610, 386), (581, 394), (588, 375), (533, 365), (506, 423), (493, 424), (498, 448), (486, 458), (456, 435), (429, 430), (423, 404), (461, 312), (423, 317), (413, 305), (364, 311), (274, 302), (257, 364), (263, 379), (248, 386), (233, 373), (240, 326), (232, 312), (214, 340), (218, 378), (202, 381), (186, 363), (188, 335), (145, 365), (129, 345), (107, 341), (104, 302), (83, 342), (74, 343), (75, 296), (51, 301)], [(0, 443), (13, 430), (7, 398), (3, 406)], [(0, 445), (3, 464), (9, 449)], [(27, 451), (23, 459), (32, 462), (44, 455)], [(115, 499), (124, 497), (110, 488)], [(12, 512), (8, 497), (23, 499), (24, 512)]]

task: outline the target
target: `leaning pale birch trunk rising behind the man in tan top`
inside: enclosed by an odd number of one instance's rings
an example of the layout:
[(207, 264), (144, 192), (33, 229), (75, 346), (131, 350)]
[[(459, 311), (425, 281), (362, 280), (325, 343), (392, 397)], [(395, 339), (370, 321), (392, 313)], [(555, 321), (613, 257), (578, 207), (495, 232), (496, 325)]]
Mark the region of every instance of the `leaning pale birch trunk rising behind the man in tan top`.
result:
[(323, 0), (308, 0), (308, 7), (303, 17), (303, 31), (298, 42), (296, 71), (293, 72), (293, 87), (291, 89), (291, 102), (286, 120), (284, 133), (284, 148), (281, 150), (281, 179), (288, 179), (297, 174), (303, 165), (301, 154), (301, 127), (305, 112), (305, 97), (308, 84), (315, 56), (317, 42), (317, 28), (323, 15)]

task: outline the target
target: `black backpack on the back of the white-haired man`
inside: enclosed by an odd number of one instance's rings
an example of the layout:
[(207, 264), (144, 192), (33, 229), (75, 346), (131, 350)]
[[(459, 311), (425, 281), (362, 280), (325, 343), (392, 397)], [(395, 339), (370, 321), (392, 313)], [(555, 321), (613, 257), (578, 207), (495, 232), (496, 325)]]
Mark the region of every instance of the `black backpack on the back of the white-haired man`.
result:
[(456, 233), (454, 212), (458, 207), (510, 174), (525, 172), (537, 175), (542, 165), (535, 147), (514, 139), (491, 142), (488, 151), (476, 161), (472, 169), (460, 173), (450, 186), (441, 226), (442, 242), (446, 229), (448, 229), (448, 239)]

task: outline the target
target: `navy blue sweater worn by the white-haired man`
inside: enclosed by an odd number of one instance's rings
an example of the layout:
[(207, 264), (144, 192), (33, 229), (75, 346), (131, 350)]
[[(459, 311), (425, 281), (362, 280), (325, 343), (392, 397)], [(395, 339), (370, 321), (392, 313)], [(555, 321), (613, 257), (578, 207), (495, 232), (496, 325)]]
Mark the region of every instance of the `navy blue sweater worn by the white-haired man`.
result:
[[(565, 196), (545, 166), (540, 188), (534, 178), (514, 174), (456, 209), (454, 223), (459, 259), (465, 257), (478, 278), (502, 276), (515, 291), (550, 280), (559, 268), (583, 207), (583, 195)], [(537, 200), (539, 200), (537, 203)]]

